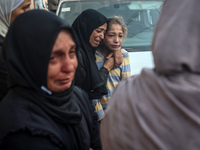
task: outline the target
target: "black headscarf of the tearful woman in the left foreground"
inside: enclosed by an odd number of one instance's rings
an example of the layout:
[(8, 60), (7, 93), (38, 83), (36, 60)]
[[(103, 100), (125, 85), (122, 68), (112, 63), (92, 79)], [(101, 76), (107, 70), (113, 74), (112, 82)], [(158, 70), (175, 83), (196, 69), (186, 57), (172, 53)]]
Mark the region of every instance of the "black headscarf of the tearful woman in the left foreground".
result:
[(81, 111), (73, 94), (73, 84), (62, 93), (47, 89), (50, 55), (61, 30), (76, 40), (73, 29), (53, 13), (31, 10), (16, 17), (5, 40), (8, 84), (54, 120), (78, 124)]

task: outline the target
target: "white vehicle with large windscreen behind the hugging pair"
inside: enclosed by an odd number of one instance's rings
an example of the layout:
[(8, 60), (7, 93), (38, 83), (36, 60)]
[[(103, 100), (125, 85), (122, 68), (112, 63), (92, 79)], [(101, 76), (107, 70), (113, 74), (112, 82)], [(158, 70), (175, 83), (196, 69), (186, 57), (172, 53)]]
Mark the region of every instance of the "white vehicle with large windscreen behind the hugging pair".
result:
[(61, 0), (56, 14), (70, 25), (85, 9), (96, 9), (106, 17), (122, 16), (128, 35), (122, 47), (129, 52), (131, 74), (153, 68), (151, 41), (164, 0)]

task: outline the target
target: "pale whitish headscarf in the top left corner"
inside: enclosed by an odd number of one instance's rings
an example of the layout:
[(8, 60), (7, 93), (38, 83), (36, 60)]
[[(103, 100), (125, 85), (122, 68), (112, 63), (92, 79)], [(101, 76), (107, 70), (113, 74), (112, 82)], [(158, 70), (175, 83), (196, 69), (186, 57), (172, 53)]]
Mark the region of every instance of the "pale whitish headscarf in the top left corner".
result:
[(24, 0), (0, 0), (0, 35), (5, 37), (10, 26), (12, 11)]

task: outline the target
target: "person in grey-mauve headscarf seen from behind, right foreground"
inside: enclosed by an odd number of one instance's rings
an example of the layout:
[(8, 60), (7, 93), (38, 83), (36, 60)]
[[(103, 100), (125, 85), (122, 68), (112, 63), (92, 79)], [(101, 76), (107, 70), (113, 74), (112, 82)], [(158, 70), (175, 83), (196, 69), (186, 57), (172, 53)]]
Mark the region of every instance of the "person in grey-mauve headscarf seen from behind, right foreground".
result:
[(200, 147), (199, 0), (166, 0), (152, 51), (154, 69), (123, 80), (101, 124), (104, 150)]

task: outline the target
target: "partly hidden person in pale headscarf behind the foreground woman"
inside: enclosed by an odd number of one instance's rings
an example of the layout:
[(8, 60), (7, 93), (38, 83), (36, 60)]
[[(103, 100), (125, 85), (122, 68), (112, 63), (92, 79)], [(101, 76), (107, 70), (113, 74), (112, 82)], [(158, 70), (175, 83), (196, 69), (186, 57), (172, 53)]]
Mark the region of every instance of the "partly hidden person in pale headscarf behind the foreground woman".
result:
[[(8, 91), (2, 47), (8, 28), (19, 14), (30, 10), (31, 0), (0, 0), (0, 101)], [(20, 35), (19, 35), (20, 36)]]

